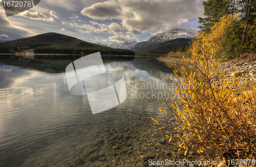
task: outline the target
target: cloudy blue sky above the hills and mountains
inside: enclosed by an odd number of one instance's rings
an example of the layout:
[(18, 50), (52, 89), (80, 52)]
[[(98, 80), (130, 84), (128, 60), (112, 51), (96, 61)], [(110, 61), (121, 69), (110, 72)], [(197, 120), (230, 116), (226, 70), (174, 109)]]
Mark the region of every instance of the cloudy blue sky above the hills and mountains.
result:
[(55, 32), (88, 42), (145, 41), (175, 28), (199, 30), (203, 0), (41, 0), (7, 17), (0, 0), (0, 36)]

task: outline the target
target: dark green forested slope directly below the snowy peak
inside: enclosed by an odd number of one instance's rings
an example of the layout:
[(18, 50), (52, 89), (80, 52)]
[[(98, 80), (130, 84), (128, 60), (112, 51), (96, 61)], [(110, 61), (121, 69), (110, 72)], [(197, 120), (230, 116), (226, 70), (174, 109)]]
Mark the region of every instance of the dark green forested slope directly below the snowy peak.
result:
[(188, 46), (191, 39), (177, 38), (167, 42), (159, 43), (157, 45), (147, 47), (146, 49), (135, 52), (136, 56), (164, 56), (173, 51), (174, 47), (177, 49), (180, 46)]

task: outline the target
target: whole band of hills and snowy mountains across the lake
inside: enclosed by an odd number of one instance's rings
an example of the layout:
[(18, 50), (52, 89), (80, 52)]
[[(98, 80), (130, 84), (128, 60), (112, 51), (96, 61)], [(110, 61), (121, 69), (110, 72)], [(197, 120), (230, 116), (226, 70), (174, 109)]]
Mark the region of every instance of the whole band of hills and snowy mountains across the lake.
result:
[(197, 34), (198, 31), (192, 29), (173, 29), (159, 33), (143, 42), (112, 42), (110, 44), (100, 42), (93, 44), (57, 33), (40, 34), (10, 41), (12, 39), (3, 34), (0, 35), (0, 52), (17, 53), (33, 49), (35, 53), (42, 54), (91, 54), (101, 52), (103, 55), (134, 55), (135, 52), (135, 55), (162, 56), (173, 51), (174, 47), (177, 49), (189, 45), (190, 39), (195, 38)]

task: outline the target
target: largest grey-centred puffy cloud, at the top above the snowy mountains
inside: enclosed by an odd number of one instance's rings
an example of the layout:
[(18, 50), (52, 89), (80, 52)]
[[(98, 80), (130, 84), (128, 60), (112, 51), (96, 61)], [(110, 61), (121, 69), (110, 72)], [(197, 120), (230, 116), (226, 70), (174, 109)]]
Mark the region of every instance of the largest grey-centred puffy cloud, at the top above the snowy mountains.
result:
[(93, 19), (119, 19), (126, 29), (139, 32), (171, 30), (203, 14), (202, 0), (117, 0), (81, 10)]

